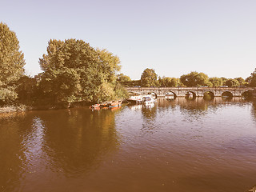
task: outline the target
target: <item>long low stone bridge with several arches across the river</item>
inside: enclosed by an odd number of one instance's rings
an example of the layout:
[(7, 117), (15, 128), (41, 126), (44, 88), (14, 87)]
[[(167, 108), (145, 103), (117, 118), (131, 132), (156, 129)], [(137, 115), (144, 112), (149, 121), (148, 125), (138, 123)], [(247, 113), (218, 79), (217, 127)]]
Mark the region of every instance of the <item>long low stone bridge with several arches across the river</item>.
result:
[(214, 97), (222, 97), (223, 93), (228, 93), (232, 97), (242, 97), (254, 90), (251, 87), (126, 87), (132, 94), (155, 94), (156, 98), (164, 98), (166, 94), (174, 94), (174, 97), (186, 97), (193, 94), (194, 97), (203, 97), (206, 93), (213, 94)]

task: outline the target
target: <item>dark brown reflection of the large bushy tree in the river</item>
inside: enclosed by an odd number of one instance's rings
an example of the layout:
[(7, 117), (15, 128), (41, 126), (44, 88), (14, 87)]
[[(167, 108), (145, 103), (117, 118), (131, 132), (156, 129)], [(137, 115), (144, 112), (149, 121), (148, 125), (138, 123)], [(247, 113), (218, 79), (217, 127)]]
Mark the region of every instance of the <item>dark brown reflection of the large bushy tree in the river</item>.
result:
[(45, 150), (67, 176), (78, 176), (94, 169), (102, 155), (118, 149), (116, 112), (76, 109), (58, 113), (57, 117), (54, 114), (41, 116), (46, 126)]

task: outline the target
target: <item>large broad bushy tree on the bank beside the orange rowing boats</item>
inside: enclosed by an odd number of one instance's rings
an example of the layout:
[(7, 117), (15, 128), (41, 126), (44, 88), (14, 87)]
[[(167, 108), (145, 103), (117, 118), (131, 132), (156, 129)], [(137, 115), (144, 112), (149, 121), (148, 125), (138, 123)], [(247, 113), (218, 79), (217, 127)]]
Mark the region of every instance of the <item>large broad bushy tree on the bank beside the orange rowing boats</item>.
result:
[(50, 40), (39, 59), (44, 71), (40, 88), (52, 102), (98, 102), (118, 98), (116, 72), (120, 60), (77, 39)]

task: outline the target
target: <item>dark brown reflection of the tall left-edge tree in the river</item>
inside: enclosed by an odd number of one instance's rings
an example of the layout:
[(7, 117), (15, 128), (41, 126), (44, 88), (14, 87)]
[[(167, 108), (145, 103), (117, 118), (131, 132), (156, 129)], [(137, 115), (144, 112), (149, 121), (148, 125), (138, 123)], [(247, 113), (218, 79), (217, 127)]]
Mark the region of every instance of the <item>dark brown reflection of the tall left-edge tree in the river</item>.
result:
[(21, 185), (21, 174), (26, 172), (24, 141), (32, 130), (32, 120), (28, 113), (1, 114), (0, 191), (15, 191)]

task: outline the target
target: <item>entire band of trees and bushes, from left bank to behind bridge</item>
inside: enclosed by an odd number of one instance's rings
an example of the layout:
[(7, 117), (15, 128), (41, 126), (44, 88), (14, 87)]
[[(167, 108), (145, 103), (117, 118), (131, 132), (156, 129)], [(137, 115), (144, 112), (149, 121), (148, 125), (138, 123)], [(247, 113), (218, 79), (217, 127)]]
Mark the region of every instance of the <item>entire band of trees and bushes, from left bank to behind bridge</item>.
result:
[(42, 73), (34, 78), (25, 74), (25, 64), (16, 34), (0, 22), (0, 112), (127, 98), (124, 86), (256, 86), (256, 70), (244, 80), (209, 78), (196, 71), (180, 78), (158, 77), (154, 69), (147, 68), (140, 80), (131, 80), (118, 74), (118, 56), (77, 39), (50, 39), (47, 53), (39, 58)]

